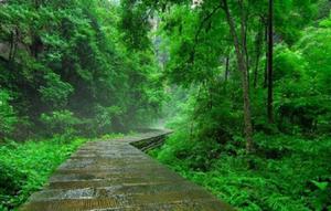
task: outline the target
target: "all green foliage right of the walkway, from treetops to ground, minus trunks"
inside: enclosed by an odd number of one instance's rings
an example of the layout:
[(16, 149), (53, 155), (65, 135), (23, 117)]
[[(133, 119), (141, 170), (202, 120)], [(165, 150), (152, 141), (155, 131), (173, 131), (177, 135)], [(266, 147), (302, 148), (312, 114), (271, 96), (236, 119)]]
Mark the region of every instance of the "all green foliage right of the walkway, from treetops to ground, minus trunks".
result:
[(170, 54), (164, 77), (174, 84), (166, 110), (175, 133), (150, 154), (239, 210), (330, 210), (331, 32), (325, 12), (317, 15), (321, 9), (329, 13), (330, 3), (274, 1), (269, 124), (263, 46), (268, 1), (227, 1), (238, 33), (241, 11), (248, 17), (246, 43), (239, 44), (247, 51), (255, 152), (246, 155), (242, 78), (218, 2), (191, 9), (167, 1), (161, 9), (158, 34)]

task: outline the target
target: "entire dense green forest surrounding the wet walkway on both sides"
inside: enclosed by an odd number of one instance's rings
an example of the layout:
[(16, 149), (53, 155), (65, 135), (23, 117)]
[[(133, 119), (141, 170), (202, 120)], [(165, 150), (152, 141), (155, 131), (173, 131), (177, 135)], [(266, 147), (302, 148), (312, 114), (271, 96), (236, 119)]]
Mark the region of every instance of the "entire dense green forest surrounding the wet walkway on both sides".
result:
[(0, 1), (0, 210), (87, 140), (156, 123), (174, 133), (150, 156), (238, 210), (331, 210), (330, 9)]

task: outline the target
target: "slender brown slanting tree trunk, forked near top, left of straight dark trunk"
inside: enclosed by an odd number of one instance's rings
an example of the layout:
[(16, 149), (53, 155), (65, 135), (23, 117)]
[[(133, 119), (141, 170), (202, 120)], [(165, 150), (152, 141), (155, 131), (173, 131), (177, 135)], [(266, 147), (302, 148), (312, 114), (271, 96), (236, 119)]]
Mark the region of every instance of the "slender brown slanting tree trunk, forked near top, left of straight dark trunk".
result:
[[(247, 64), (245, 61), (245, 49), (241, 43), (244, 43), (245, 41), (242, 40), (239, 42), (238, 34), (235, 29), (235, 22), (233, 17), (231, 15), (229, 8), (227, 6), (227, 0), (221, 0), (221, 3), (223, 6), (223, 9), (225, 11), (226, 20), (229, 27), (229, 32), (231, 35), (233, 36), (234, 41), (234, 48), (235, 48), (235, 53), (237, 57), (237, 65), (239, 71), (242, 72), (242, 86), (243, 86), (243, 98), (244, 98), (244, 124), (245, 124), (245, 138), (246, 138), (246, 150), (247, 154), (250, 154), (254, 151), (254, 146), (253, 146), (253, 126), (252, 126), (252, 117), (250, 117), (250, 101), (249, 101), (249, 87), (248, 87), (248, 71), (247, 71)], [(245, 25), (243, 25), (243, 20), (242, 17), (242, 22), (241, 22), (241, 31), (242, 34), (245, 31)], [(242, 39), (245, 39), (242, 35)]]

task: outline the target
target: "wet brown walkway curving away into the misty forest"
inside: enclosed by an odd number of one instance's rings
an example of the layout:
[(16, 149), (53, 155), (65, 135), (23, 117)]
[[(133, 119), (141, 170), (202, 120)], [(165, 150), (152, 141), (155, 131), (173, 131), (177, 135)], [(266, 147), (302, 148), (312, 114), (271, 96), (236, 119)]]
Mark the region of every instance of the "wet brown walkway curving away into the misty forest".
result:
[(83, 146), (21, 211), (233, 210), (130, 145), (147, 133)]

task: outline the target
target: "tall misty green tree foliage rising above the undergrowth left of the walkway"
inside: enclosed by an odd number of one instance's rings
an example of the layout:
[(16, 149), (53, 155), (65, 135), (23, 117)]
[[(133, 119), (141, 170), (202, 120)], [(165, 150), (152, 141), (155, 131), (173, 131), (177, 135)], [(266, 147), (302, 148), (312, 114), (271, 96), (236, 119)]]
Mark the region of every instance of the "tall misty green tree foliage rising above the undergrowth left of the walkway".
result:
[[(29, 123), (17, 125), (23, 136), (47, 130), (40, 116), (58, 110), (81, 119), (77, 133), (93, 135), (157, 116), (163, 89), (143, 8), (108, 0), (13, 0), (0, 8), (0, 85)], [(67, 126), (55, 122), (49, 134)]]

